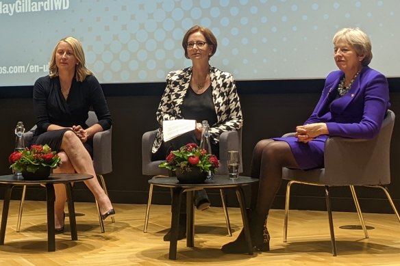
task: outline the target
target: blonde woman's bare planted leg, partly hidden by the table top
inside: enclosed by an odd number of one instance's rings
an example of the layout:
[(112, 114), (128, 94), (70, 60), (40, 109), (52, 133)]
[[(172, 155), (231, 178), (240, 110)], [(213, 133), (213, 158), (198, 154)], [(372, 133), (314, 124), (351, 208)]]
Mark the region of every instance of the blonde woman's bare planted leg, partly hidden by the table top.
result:
[[(58, 152), (58, 156), (61, 158), (61, 165), (58, 168), (55, 168), (53, 172), (55, 173), (75, 173), (75, 169), (73, 168), (71, 162), (66, 156), (65, 152)], [(55, 202), (54, 202), (54, 221), (55, 228), (62, 228), (64, 226), (64, 207), (66, 201), (66, 191), (64, 184), (55, 184)]]

